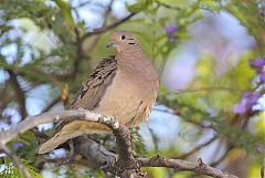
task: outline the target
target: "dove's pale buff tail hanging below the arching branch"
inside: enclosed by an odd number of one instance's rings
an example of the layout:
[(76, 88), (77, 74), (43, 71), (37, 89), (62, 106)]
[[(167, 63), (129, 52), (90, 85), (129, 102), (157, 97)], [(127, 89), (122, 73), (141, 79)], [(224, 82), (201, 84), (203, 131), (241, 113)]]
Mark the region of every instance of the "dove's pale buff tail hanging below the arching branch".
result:
[(85, 134), (103, 134), (109, 133), (110, 129), (97, 123), (73, 121), (62, 125), (57, 132), (45, 143), (43, 143), (38, 149), (36, 154), (46, 154), (71, 138), (82, 136)]

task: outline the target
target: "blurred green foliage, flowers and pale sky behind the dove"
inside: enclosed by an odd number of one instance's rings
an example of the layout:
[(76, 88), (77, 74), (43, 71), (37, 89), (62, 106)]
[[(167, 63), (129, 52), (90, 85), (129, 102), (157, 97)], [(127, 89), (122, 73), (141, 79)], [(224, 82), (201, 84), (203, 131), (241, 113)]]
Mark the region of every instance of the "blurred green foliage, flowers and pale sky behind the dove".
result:
[[(28, 115), (70, 108), (89, 71), (134, 32), (160, 76), (149, 122), (132, 130), (136, 153), (197, 161), (258, 178), (265, 157), (263, 0), (0, 0), (0, 130)], [(105, 177), (62, 165), (64, 149), (35, 156), (53, 133), (40, 125), (9, 144), (34, 177)], [(20, 177), (4, 154), (0, 177)], [(42, 163), (42, 164), (40, 164)], [(150, 178), (203, 177), (145, 168)]]

